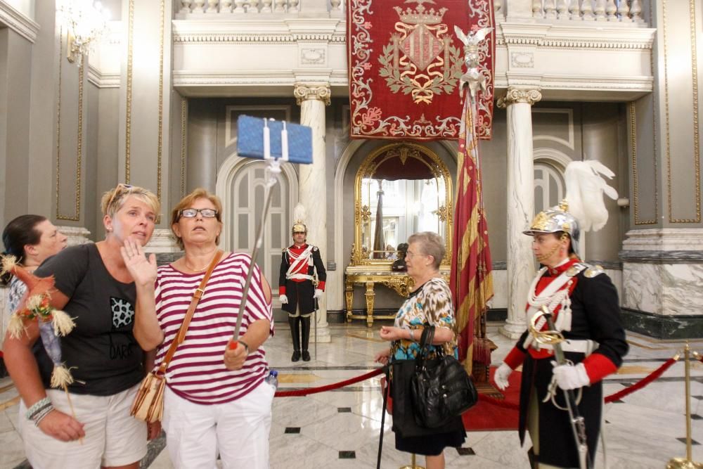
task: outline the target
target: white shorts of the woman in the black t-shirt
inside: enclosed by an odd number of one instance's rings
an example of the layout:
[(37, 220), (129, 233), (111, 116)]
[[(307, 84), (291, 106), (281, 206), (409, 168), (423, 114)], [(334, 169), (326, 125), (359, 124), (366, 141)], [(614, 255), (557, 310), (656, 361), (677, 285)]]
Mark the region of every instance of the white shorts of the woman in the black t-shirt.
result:
[[(83, 442), (62, 442), (46, 435), (27, 420), (27, 408), (20, 401), (19, 430), (25, 455), (34, 468), (86, 468), (127, 465), (146, 456), (146, 423), (129, 415), (139, 385), (112, 396), (71, 394), (76, 419), (84, 423)], [(51, 404), (68, 415), (66, 393), (46, 390)]]

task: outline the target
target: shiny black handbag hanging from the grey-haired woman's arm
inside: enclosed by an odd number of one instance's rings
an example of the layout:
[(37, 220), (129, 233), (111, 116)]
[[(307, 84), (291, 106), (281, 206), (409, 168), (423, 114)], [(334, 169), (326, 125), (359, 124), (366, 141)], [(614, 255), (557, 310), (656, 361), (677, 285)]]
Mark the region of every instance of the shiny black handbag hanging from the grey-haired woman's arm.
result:
[(415, 422), (425, 428), (441, 428), (478, 401), (471, 377), (452, 355), (436, 347), (437, 358), (427, 359), (434, 339), (434, 326), (426, 326), (420, 340), (411, 378)]

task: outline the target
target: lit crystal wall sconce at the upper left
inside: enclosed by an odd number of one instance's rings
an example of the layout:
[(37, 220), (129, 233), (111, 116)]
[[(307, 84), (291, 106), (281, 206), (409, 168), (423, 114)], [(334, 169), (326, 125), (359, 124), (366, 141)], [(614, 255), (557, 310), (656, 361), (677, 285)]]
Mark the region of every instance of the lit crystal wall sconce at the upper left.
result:
[(110, 12), (99, 1), (93, 0), (61, 0), (56, 9), (68, 30), (67, 59), (81, 65), (91, 44), (107, 27)]

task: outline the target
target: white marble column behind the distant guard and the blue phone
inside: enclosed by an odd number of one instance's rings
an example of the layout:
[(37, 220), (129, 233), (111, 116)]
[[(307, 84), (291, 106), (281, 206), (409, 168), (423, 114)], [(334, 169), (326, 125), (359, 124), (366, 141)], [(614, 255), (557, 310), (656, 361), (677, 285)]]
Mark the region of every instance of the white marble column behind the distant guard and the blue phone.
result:
[[(325, 164), (325, 105), (330, 105), (329, 84), (298, 83), (293, 91), (300, 106), (300, 123), (312, 127), (312, 165), (299, 166), (298, 200), (307, 210), (308, 240), (318, 246), (327, 265), (327, 171)], [(323, 295), (317, 314), (317, 340), (330, 342), (327, 298)], [(313, 332), (310, 333), (311, 340)]]

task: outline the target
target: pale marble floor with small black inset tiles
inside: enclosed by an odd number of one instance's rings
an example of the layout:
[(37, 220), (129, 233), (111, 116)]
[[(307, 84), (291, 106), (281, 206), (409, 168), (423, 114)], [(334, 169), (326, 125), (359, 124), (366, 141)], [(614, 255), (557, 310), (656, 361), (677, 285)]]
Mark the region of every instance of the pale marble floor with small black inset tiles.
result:
[[(512, 341), (489, 324), (489, 338), (498, 349), (494, 363), (500, 363)], [(332, 342), (319, 344), (317, 356), (308, 363), (290, 362), (290, 333), (287, 324), (276, 324), (276, 335), (266, 343), (266, 354), (279, 371), (279, 389), (316, 387), (366, 373), (373, 368), (373, 354), (384, 346), (378, 328), (365, 324), (331, 325)], [(683, 349), (683, 341), (652, 340), (628, 334), (631, 351), (617, 375), (606, 380), (605, 392), (612, 394), (650, 373)], [(703, 340), (691, 342), (703, 352)], [(311, 350), (311, 353), (314, 352)], [(691, 361), (691, 409), (693, 461), (703, 461), (703, 364)], [(679, 360), (659, 380), (622, 401), (607, 404), (605, 435), (607, 467), (664, 468), (666, 461), (686, 455), (685, 368)], [(15, 430), (19, 397), (9, 378), (0, 380), (0, 469), (29, 468)], [(271, 425), (271, 468), (374, 468), (380, 432), (382, 397), (378, 378), (333, 392), (309, 397), (282, 397), (273, 402)], [(385, 422), (382, 468), (409, 465), (410, 455), (394, 449), (389, 419)], [(142, 467), (172, 468), (165, 439), (150, 444)], [(446, 449), (446, 467), (499, 469), (529, 468), (517, 432), (469, 432), (460, 449)], [(602, 448), (596, 468), (605, 468)], [(424, 458), (418, 458), (423, 464)]]

